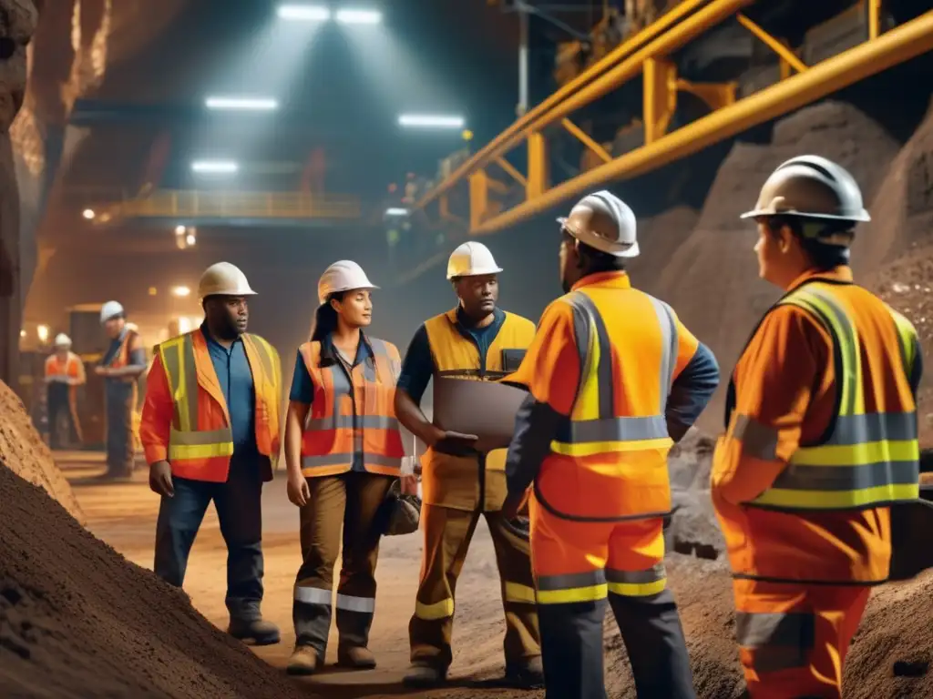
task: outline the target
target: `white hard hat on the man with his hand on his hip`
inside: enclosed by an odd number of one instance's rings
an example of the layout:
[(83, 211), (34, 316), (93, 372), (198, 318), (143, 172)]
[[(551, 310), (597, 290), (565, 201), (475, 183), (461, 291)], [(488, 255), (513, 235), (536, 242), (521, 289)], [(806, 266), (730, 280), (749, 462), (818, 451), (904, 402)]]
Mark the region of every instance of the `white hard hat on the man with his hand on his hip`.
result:
[(574, 238), (614, 257), (637, 257), (635, 214), (628, 205), (605, 189), (577, 202), (566, 218), (557, 222)]

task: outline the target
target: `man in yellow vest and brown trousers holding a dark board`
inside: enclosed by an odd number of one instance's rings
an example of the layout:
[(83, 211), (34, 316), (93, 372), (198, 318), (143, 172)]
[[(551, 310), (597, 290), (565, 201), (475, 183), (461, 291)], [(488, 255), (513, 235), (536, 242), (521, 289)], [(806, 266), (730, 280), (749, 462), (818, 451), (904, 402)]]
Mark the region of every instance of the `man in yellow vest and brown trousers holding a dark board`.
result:
[(476, 437), (444, 432), (420, 404), (432, 377), (490, 381), (518, 368), (535, 336), (533, 322), (496, 308), (498, 274), (493, 254), (466, 242), (451, 254), (447, 279), (458, 304), (425, 322), (411, 339), (396, 391), (399, 421), (428, 450), (422, 459), (422, 530), (425, 544), (414, 615), (409, 624), (410, 686), (443, 682), (452, 660), (454, 587), (480, 514), (493, 536), (506, 614), (506, 680), (543, 684), (535, 590), (526, 539), (508, 527), (500, 510), (506, 497), (505, 449), (481, 454)]

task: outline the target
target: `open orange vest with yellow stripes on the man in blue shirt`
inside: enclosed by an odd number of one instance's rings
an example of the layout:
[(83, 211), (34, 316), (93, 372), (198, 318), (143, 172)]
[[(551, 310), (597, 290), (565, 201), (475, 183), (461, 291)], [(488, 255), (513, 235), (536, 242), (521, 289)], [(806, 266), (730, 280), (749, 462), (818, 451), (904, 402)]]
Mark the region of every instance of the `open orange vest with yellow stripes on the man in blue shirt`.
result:
[[(281, 364), (278, 352), (258, 335), (243, 335), (256, 391), (256, 445), (261, 455), (279, 453)], [(168, 460), (172, 473), (224, 483), (233, 456), (227, 399), (220, 389), (207, 340), (199, 328), (159, 345), (159, 357), (174, 399)], [(267, 479), (272, 473), (267, 474)]]

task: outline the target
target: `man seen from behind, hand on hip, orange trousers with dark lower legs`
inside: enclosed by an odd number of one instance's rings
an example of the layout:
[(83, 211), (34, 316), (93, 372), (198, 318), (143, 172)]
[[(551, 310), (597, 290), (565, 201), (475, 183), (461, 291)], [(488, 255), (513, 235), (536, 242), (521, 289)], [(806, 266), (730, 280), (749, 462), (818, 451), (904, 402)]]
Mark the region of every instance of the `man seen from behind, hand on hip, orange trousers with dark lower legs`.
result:
[(513, 516), (528, 488), (548, 699), (603, 699), (606, 600), (639, 697), (693, 697), (664, 570), (667, 454), (718, 385), (713, 353), (632, 287), (632, 210), (607, 191), (561, 224), (566, 295), (544, 311), (508, 382), (527, 387), (508, 447)]

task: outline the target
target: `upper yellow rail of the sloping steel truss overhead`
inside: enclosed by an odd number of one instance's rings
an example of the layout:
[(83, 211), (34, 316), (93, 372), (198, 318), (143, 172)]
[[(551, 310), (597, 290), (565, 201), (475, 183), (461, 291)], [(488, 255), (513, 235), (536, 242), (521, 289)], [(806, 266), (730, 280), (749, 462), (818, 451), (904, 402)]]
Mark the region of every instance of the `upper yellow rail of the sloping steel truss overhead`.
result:
[[(684, 2), (661, 16), (661, 19), (649, 24), (634, 36), (623, 41), (618, 47), (614, 48), (598, 62), (591, 65), (583, 73), (575, 77), (562, 88), (553, 92), (543, 102), (537, 103), (534, 107), (529, 109), (522, 117), (518, 118), (509, 126), (508, 129), (502, 131), (502, 133), (496, 136), (492, 141), (484, 145), (476, 155), (469, 158), (463, 165), (453, 171), (450, 177), (446, 178), (438, 186), (425, 194), (425, 197), (418, 201), (414, 205), (414, 208), (424, 208), (427, 204), (431, 203), (433, 199), (437, 199), (440, 195), (449, 191), (457, 182), (466, 178), (470, 172), (476, 171), (484, 165), (488, 165), (497, 156), (507, 153), (508, 150), (521, 141), (524, 132), (534, 130), (534, 122), (536, 119), (547, 114), (550, 108), (561, 103), (564, 98), (575, 94), (579, 89), (582, 89), (599, 75), (602, 75), (609, 68), (622, 61), (626, 56), (633, 53), (638, 48), (641, 48), (658, 34), (666, 31), (669, 27), (675, 25), (698, 7), (708, 2), (710, 2), (710, 0), (684, 0)], [(529, 127), (532, 128), (529, 129)]]

